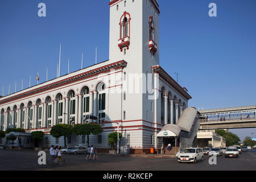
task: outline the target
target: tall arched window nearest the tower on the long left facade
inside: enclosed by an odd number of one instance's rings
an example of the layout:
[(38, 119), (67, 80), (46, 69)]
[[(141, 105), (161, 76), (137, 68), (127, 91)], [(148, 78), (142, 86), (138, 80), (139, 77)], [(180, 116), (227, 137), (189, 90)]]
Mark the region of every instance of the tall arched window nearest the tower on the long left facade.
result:
[(104, 82), (100, 82), (97, 86), (98, 90), (98, 123), (105, 119), (105, 109), (106, 109), (106, 86)]

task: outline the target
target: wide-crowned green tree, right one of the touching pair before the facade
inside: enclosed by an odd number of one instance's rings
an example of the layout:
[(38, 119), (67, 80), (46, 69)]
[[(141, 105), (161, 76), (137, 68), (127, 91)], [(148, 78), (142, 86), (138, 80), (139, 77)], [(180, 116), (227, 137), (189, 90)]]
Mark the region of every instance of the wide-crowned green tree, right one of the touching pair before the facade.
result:
[(76, 135), (87, 136), (87, 144), (89, 144), (89, 135), (98, 135), (103, 132), (102, 127), (97, 124), (86, 123), (83, 125), (76, 125), (73, 128)]

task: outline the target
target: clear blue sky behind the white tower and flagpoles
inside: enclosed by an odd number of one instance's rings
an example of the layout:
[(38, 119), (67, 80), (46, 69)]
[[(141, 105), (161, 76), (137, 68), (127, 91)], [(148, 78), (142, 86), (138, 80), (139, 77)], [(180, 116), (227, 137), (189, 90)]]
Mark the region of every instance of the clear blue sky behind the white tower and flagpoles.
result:
[[(130, 0), (127, 0), (130, 1)], [(141, 1), (141, 0), (135, 0)], [(46, 3), (46, 18), (38, 4)], [(0, 94), (109, 59), (108, 0), (1, 0)], [(216, 3), (217, 17), (208, 15)], [(256, 1), (159, 0), (160, 65), (193, 97), (189, 106), (215, 109), (256, 105)], [(241, 140), (256, 129), (232, 130)]]

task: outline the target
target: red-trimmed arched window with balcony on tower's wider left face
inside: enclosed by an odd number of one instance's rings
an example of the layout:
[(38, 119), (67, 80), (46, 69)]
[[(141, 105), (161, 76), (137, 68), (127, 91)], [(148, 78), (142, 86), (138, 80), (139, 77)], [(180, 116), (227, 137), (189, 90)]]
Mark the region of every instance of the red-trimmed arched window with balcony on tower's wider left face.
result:
[(118, 47), (120, 48), (121, 52), (123, 48), (126, 47), (129, 49), (130, 46), (130, 14), (126, 11), (120, 18), (120, 39), (118, 40)]

